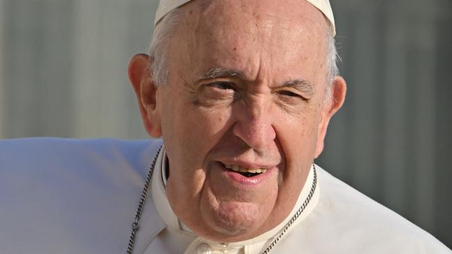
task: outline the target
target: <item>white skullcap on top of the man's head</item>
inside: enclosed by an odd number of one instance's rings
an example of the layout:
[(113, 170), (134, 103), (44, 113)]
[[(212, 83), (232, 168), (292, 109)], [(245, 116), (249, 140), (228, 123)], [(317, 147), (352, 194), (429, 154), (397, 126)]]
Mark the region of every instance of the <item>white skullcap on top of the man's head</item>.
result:
[[(155, 15), (154, 26), (160, 21), (160, 19), (165, 17), (165, 15), (168, 14), (168, 12), (189, 1), (191, 0), (160, 0), (159, 8), (157, 8), (157, 12)], [(316, 8), (320, 10), (323, 13), (323, 15), (325, 15), (325, 17), (328, 18), (331, 24), (332, 33), (333, 35), (336, 35), (336, 27), (334, 26), (334, 16), (332, 15), (330, 0), (306, 0), (306, 1), (311, 3), (313, 6), (316, 6)]]

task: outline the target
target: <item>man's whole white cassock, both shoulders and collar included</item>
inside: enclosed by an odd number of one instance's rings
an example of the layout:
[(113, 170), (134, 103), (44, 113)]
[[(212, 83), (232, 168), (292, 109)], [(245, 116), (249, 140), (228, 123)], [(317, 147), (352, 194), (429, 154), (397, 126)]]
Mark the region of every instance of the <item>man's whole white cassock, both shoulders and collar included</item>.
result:
[[(159, 140), (0, 141), (0, 254), (126, 253), (131, 223)], [(166, 157), (156, 161), (134, 253), (261, 253), (289, 217), (255, 239), (197, 237), (172, 212)], [(435, 237), (316, 166), (311, 201), (270, 253), (452, 253)], [(204, 251), (204, 252), (202, 252)]]

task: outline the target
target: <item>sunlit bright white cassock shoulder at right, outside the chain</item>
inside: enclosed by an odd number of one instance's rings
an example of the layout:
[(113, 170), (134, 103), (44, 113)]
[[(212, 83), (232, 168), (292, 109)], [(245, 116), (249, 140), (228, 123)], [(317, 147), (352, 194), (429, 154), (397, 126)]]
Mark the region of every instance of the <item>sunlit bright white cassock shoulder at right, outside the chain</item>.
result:
[(428, 232), (318, 167), (316, 209), (276, 246), (278, 253), (452, 253)]

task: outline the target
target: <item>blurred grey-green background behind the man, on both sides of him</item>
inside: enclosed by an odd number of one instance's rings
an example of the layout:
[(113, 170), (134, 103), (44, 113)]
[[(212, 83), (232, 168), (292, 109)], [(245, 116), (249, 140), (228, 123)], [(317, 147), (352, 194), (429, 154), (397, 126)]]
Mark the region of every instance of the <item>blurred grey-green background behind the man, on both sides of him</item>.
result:
[[(348, 95), (317, 163), (451, 248), (452, 1), (331, 2)], [(0, 138), (147, 138), (127, 63), (156, 6), (0, 0)]]

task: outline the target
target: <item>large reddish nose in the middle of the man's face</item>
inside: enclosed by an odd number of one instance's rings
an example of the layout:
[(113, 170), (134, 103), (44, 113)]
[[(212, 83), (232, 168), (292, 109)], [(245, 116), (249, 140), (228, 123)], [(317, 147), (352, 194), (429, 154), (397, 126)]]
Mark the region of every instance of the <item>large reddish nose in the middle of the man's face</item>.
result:
[(255, 151), (265, 151), (276, 138), (273, 120), (264, 102), (243, 103), (236, 108), (232, 133)]

